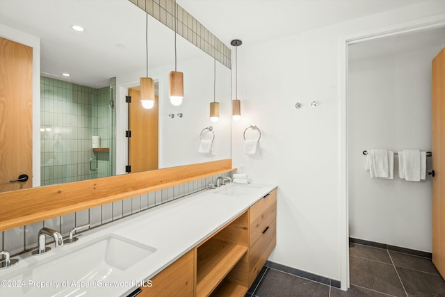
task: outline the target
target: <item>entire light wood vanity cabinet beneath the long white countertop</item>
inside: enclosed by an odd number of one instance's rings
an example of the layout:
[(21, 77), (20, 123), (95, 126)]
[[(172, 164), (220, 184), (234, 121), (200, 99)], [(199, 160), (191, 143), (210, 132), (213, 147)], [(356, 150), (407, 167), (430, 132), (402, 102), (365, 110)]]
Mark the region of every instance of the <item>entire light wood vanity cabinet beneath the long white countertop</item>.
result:
[(138, 296), (243, 297), (276, 245), (277, 190), (141, 287)]

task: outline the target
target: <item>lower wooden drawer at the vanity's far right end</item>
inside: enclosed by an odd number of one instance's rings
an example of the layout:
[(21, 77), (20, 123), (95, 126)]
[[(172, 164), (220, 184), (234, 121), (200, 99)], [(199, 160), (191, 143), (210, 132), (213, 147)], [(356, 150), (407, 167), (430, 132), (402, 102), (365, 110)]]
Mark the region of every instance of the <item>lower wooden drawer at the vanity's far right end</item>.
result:
[(272, 220), (266, 228), (266, 232), (261, 232), (258, 240), (249, 250), (249, 286), (257, 278), (277, 243), (277, 220)]

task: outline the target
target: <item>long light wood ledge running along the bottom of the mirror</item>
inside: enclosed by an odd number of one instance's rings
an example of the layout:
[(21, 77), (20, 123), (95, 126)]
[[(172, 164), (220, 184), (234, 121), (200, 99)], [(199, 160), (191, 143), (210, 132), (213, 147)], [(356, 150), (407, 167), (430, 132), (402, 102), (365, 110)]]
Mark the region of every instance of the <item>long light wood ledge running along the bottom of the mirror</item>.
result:
[(232, 159), (0, 193), (0, 231), (236, 170)]

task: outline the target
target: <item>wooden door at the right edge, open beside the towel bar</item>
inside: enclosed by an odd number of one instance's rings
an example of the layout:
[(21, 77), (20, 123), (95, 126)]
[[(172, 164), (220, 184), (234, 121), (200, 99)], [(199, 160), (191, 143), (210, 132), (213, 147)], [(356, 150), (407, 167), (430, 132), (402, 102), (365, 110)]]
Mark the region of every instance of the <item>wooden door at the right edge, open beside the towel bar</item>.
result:
[(445, 277), (445, 48), (432, 60), (432, 263)]

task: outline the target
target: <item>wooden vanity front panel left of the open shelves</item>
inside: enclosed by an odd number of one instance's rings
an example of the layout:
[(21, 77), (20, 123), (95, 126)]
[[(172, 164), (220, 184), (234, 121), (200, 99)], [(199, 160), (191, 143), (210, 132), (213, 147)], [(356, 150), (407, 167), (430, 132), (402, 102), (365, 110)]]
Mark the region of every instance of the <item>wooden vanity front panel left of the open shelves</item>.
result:
[(151, 287), (141, 287), (138, 297), (193, 297), (194, 251), (187, 252), (152, 278)]

